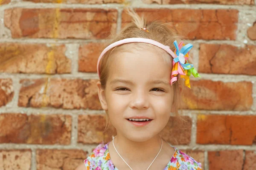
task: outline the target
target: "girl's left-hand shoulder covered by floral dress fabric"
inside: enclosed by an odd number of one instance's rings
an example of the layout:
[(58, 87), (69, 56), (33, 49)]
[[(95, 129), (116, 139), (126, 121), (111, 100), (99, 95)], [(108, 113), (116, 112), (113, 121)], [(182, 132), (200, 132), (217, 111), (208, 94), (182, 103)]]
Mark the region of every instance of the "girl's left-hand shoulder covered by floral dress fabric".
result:
[(108, 143), (99, 144), (93, 152), (84, 160), (87, 170), (103, 170), (105, 167), (109, 170), (114, 170), (110, 155), (108, 152)]

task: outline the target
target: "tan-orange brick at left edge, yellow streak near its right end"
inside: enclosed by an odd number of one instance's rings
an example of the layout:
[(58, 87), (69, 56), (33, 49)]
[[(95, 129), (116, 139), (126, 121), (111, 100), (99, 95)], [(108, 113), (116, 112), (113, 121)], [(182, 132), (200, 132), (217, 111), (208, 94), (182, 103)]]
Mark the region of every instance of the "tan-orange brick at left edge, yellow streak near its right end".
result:
[(70, 73), (71, 60), (65, 51), (64, 45), (0, 43), (0, 72)]

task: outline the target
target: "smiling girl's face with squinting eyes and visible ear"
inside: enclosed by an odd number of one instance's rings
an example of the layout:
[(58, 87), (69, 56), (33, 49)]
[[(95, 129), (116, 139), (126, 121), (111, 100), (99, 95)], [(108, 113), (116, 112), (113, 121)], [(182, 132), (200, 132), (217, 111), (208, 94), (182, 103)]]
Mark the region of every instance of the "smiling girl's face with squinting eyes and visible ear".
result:
[[(149, 140), (169, 121), (174, 94), (172, 67), (160, 55), (164, 54), (153, 49), (116, 53), (108, 68), (106, 89), (99, 91), (102, 108), (108, 110), (117, 134), (131, 141)], [(128, 120), (137, 116), (152, 120), (138, 127)]]

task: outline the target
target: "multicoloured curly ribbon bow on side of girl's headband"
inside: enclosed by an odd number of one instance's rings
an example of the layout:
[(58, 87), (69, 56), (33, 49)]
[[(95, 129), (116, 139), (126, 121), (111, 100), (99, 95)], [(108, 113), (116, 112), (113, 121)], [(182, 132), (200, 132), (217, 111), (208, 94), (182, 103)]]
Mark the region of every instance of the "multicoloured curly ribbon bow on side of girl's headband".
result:
[(177, 81), (177, 75), (180, 75), (180, 78), (185, 79), (185, 85), (190, 88), (189, 76), (192, 74), (195, 78), (200, 77), (198, 72), (193, 68), (193, 64), (189, 64), (189, 50), (192, 49), (192, 44), (185, 45), (181, 41), (178, 45), (177, 41), (174, 42), (175, 45), (175, 54), (176, 58), (172, 61), (172, 79), (171, 84), (174, 84)]

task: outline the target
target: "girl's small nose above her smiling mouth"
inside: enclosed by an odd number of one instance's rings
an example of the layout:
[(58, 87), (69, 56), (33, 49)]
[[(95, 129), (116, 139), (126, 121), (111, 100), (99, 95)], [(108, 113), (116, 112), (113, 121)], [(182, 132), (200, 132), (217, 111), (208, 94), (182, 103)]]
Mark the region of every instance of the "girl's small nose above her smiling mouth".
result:
[(149, 102), (148, 96), (143, 93), (137, 93), (133, 95), (133, 99), (130, 103), (132, 109), (148, 109)]

